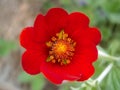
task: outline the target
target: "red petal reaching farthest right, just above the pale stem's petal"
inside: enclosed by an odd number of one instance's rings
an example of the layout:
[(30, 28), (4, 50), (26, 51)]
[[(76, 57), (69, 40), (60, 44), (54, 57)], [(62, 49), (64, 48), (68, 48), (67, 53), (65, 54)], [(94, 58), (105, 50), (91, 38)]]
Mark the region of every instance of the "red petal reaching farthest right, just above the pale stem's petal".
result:
[(81, 30), (81, 28), (75, 29), (72, 34), (70, 34), (71, 38), (77, 42), (92, 42), (95, 45), (99, 44), (101, 41), (101, 33), (97, 28), (86, 28), (85, 30)]

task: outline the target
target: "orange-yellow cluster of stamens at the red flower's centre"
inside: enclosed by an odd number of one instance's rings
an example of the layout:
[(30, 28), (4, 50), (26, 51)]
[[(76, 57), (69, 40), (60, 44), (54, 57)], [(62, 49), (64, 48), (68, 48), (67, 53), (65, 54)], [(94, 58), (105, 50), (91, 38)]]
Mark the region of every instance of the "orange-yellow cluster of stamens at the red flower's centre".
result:
[(67, 65), (71, 62), (76, 42), (69, 38), (64, 30), (53, 36), (46, 45), (49, 48), (47, 62), (58, 63), (60, 65)]

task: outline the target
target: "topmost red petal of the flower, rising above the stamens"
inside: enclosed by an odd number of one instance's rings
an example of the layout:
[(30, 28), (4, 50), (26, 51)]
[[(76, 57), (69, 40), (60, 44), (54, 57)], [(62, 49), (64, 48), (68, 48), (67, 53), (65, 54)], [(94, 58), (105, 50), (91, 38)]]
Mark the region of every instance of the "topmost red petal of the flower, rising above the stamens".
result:
[(68, 13), (62, 8), (50, 9), (46, 16), (46, 22), (49, 26), (48, 33), (52, 36), (63, 29), (67, 24)]

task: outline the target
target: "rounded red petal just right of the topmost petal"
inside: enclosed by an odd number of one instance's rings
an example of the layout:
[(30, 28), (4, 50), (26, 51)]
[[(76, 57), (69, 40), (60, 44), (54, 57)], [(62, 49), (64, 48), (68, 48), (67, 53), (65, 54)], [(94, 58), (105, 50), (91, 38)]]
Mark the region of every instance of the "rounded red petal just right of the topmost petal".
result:
[(89, 18), (80, 12), (74, 12), (69, 15), (68, 25), (66, 26), (66, 31), (71, 34), (76, 29), (84, 30), (89, 26)]

